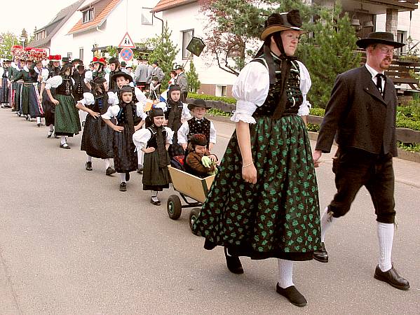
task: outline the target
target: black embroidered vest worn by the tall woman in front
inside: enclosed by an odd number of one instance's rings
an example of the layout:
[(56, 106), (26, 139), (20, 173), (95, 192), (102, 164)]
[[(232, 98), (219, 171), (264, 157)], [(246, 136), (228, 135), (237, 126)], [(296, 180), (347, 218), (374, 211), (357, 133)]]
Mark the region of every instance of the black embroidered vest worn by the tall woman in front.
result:
[[(274, 65), (276, 66), (276, 83), (271, 84), (269, 87), (269, 94), (262, 104), (262, 106), (257, 107), (257, 110), (252, 115), (254, 118), (262, 116), (273, 116), (276, 107), (278, 106), (278, 97), (280, 97), (280, 78), (281, 78), (281, 59), (273, 55)], [(253, 59), (252, 62), (259, 62), (264, 66), (267, 66), (267, 63), (264, 59), (264, 55), (259, 58)], [(267, 69), (268, 70), (268, 69)], [(299, 64), (296, 60), (292, 61), (292, 67), (290, 68), (290, 76), (286, 83), (286, 93), (287, 93), (287, 104), (286, 109), (283, 112), (283, 116), (286, 115), (295, 115), (299, 111), (299, 106), (301, 106), (304, 101), (302, 91), (300, 90), (300, 72)]]

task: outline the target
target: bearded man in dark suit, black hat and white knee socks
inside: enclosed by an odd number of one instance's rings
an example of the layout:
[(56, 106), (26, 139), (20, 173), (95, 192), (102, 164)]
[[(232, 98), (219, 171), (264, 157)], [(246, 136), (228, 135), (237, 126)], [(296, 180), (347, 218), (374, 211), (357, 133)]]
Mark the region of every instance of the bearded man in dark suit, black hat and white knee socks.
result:
[(366, 64), (339, 74), (332, 88), (330, 102), (320, 126), (313, 160), (318, 166), (322, 153), (329, 153), (334, 135), (339, 146), (333, 160), (337, 193), (321, 218), (322, 249), (313, 254), (328, 262), (325, 232), (350, 209), (362, 186), (370, 193), (377, 215), (379, 264), (374, 278), (400, 290), (409, 283), (399, 276), (391, 262), (395, 223), (393, 157), (395, 145), (395, 110), (398, 105), (393, 81), (384, 76), (395, 48), (393, 34), (374, 32), (357, 41), (366, 50)]

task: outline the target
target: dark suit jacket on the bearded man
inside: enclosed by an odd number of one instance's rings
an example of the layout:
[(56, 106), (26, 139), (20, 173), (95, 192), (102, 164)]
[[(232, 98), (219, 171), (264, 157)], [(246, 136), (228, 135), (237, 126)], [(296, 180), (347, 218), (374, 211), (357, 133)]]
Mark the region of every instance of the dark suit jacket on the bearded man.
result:
[(339, 74), (325, 108), (316, 150), (329, 153), (334, 135), (340, 148), (360, 148), (370, 153), (392, 153), (398, 105), (393, 81), (386, 78), (384, 97), (365, 66)]

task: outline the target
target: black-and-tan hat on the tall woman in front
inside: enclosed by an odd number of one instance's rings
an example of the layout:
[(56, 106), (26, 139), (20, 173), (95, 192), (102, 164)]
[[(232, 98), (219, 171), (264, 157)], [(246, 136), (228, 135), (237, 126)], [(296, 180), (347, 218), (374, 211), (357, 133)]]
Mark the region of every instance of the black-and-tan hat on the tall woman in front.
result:
[(267, 36), (278, 31), (299, 31), (303, 34), (305, 31), (301, 29), (302, 20), (300, 19), (299, 10), (291, 10), (285, 13), (273, 13), (269, 16), (264, 24), (264, 29), (259, 36), (263, 41)]

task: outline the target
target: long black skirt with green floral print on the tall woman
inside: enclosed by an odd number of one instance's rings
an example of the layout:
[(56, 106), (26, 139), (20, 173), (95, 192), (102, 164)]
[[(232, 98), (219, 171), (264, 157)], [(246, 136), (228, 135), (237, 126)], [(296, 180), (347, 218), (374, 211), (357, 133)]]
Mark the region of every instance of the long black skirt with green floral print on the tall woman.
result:
[(250, 125), (257, 183), (242, 178), (236, 132), (194, 223), (205, 248), (226, 246), (252, 259), (311, 260), (320, 248), (318, 186), (302, 118), (257, 118)]

